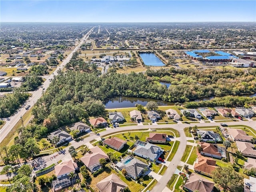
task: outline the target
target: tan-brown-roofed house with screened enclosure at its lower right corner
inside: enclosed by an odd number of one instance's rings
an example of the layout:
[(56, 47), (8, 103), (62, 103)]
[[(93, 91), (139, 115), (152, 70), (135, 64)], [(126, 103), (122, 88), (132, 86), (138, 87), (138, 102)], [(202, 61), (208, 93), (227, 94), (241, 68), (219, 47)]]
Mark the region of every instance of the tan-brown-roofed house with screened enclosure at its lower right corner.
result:
[(92, 152), (91, 154), (86, 153), (80, 159), (84, 163), (84, 165), (90, 170), (90, 172), (93, 173), (101, 168), (99, 162), (100, 158), (108, 159), (108, 156), (98, 146), (91, 148), (90, 151)]

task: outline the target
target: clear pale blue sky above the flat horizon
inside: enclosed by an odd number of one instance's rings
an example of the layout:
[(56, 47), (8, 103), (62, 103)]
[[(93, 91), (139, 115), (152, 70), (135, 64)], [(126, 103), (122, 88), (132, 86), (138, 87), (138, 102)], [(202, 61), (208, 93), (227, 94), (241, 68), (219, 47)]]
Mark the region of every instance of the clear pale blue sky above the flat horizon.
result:
[(255, 0), (1, 0), (1, 22), (256, 22)]

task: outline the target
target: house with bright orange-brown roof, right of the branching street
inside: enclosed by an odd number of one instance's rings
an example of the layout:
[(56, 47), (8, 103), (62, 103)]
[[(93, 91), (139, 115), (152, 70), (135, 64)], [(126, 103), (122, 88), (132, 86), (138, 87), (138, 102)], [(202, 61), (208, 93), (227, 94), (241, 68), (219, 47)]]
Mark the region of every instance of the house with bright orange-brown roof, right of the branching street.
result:
[(194, 164), (194, 171), (199, 174), (212, 177), (212, 171), (216, 168), (216, 161), (199, 156)]

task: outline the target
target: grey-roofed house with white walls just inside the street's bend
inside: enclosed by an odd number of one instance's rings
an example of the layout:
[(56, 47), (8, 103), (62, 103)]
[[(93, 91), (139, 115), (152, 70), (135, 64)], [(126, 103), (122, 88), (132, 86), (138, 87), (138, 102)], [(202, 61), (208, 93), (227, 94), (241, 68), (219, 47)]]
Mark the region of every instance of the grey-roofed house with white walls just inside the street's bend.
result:
[(145, 159), (149, 158), (150, 161), (157, 160), (158, 157), (163, 153), (161, 147), (140, 140), (137, 140), (134, 143), (134, 147), (136, 147), (136, 150), (134, 150), (135, 155)]

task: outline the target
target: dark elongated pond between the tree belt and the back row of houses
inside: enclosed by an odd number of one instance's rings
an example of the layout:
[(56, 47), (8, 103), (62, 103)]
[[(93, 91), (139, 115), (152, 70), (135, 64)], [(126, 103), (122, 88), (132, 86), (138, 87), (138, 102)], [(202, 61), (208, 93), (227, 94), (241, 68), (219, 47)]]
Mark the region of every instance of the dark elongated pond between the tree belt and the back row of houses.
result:
[(142, 104), (143, 106), (146, 106), (146, 104), (149, 101), (157, 102), (158, 106), (167, 106), (167, 105), (174, 105), (174, 103), (167, 102), (167, 101), (161, 101), (156, 99), (145, 99), (145, 98), (134, 98), (134, 97), (116, 97), (112, 100), (108, 101), (105, 106), (107, 109), (112, 108), (124, 108), (124, 107), (135, 107), (135, 104)]

